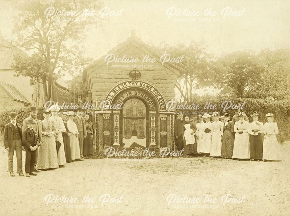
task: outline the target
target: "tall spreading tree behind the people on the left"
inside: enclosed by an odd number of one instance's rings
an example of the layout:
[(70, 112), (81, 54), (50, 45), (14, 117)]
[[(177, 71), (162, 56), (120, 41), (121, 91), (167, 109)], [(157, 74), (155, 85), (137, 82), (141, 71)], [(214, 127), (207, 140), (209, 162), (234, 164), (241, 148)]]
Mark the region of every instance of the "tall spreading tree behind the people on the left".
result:
[[(12, 44), (33, 50), (36, 55), (15, 57), (12, 68), (17, 75), (30, 76), (32, 81), (41, 80), (46, 101), (51, 99), (56, 75), (63, 75), (65, 71), (73, 74), (88, 64), (89, 59), (82, 57), (78, 44), (84, 40), (89, 26), (99, 24), (96, 11), (100, 7), (101, 3), (93, 0), (35, 0), (19, 4), (19, 16), (14, 25), (17, 40)], [(95, 13), (89, 16), (88, 12), (92, 11)]]

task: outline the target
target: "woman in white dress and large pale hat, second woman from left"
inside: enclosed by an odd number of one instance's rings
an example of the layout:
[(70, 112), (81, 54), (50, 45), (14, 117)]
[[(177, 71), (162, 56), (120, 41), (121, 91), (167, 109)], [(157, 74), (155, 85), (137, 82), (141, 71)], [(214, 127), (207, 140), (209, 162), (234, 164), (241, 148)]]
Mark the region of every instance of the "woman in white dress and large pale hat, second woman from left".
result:
[(50, 116), (49, 120), (51, 120), (52, 125), (55, 127), (55, 141), (59, 141), (61, 143), (61, 146), (57, 152), (58, 165), (64, 166), (66, 165), (66, 154), (64, 152), (64, 140), (62, 137), (62, 132), (66, 132), (66, 127), (64, 126), (62, 118), (58, 116), (58, 112), (60, 110), (58, 105), (56, 104), (51, 106), (49, 110), (52, 113), (52, 116)]

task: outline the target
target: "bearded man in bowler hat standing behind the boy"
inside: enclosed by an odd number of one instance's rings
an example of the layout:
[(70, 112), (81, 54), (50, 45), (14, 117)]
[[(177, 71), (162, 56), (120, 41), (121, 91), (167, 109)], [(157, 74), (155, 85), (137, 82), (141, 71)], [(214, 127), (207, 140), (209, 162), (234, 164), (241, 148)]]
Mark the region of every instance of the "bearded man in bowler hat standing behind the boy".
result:
[[(41, 135), (41, 121), (37, 119), (37, 109), (36, 107), (30, 107), (30, 116), (26, 119), (24, 119), (22, 124), (22, 133), (27, 128), (27, 122), (28, 120), (33, 120), (35, 124), (33, 124), (33, 130), (37, 134), (39, 138), (39, 146), (42, 144), (42, 135)], [(40, 170), (37, 170), (35, 168), (37, 163), (37, 157), (38, 157), (38, 148), (35, 150), (35, 162), (34, 162), (34, 172), (40, 172)]]

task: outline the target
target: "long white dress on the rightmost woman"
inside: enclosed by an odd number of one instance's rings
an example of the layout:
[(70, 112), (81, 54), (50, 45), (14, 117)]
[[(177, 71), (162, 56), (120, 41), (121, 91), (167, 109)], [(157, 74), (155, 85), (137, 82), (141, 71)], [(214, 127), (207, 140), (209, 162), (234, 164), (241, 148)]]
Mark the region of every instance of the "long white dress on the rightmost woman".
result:
[(264, 134), (271, 134), (264, 136), (263, 143), (263, 160), (280, 160), (278, 156), (279, 143), (276, 134), (279, 133), (276, 122), (266, 122), (264, 125)]

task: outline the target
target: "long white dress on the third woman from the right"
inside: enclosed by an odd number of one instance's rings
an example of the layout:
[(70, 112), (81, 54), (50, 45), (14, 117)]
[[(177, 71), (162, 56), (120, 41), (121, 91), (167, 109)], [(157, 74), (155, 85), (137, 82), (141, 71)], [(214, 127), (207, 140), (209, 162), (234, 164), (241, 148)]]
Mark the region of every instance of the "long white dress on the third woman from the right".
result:
[[(249, 159), (250, 158), (250, 140), (248, 134), (249, 122), (246, 120), (237, 121), (234, 125), (235, 142), (232, 158)], [(242, 134), (238, 130), (243, 130)]]

